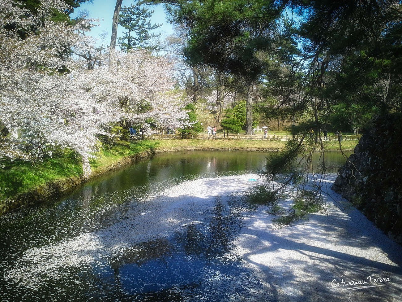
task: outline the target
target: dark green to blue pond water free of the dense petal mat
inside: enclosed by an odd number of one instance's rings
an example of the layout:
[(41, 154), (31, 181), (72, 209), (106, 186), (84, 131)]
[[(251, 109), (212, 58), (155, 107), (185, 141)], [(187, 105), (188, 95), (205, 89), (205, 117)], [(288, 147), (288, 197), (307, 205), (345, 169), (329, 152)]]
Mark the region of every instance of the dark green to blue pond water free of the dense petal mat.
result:
[[(241, 259), (230, 255), (241, 228), (236, 201), (216, 199), (208, 215), (200, 214), (201, 223), (148, 234), (150, 225), (158, 228), (153, 211), (161, 211), (160, 203), (152, 200), (160, 192), (187, 180), (262, 170), (266, 155), (158, 155), (95, 178), (62, 199), (0, 217), (1, 300), (222, 301), (258, 290)], [(339, 153), (328, 153), (327, 160), (345, 161)], [(139, 218), (143, 226), (135, 224)]]

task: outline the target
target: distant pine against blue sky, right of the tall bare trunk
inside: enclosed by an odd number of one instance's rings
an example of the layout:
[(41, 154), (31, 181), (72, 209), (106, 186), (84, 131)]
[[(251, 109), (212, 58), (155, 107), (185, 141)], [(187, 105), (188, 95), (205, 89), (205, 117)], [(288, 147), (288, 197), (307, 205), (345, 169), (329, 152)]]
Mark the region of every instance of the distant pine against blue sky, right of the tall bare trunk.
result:
[(160, 36), (150, 31), (162, 26), (160, 23), (152, 24), (150, 18), (154, 10), (141, 7), (137, 1), (135, 4), (125, 6), (119, 15), (119, 24), (126, 29), (123, 37), (118, 39), (121, 50), (127, 52), (130, 49), (159, 50), (159, 42), (151, 40)]

